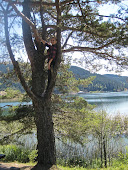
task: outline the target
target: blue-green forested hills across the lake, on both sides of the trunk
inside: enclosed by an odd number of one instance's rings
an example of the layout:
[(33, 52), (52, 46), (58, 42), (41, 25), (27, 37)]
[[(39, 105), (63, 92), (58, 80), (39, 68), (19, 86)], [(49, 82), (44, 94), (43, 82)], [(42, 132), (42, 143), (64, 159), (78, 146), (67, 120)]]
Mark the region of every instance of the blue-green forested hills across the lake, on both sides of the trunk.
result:
[[(13, 66), (11, 64), (1, 64), (0, 63), (0, 73), (6, 73), (7, 70), (12, 70)], [(87, 88), (80, 87), (81, 91), (123, 91), (128, 89), (128, 77), (126, 76), (118, 76), (113, 74), (92, 74), (87, 70), (84, 70), (80, 67), (71, 66), (70, 71), (73, 72), (74, 76), (78, 79), (86, 79), (90, 76), (96, 76), (95, 80), (92, 84), (90, 84)], [(7, 87), (14, 87), (23, 91), (19, 82), (15, 82), (9, 79), (2, 79), (0, 76), (0, 91), (5, 90)]]

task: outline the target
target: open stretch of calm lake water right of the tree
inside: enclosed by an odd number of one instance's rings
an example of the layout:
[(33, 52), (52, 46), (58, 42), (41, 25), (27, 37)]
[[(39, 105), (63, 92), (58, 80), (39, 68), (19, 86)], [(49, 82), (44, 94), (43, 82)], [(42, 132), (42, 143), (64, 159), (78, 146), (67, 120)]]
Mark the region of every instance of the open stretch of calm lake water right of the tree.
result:
[(109, 114), (128, 115), (128, 91), (107, 93), (79, 93), (90, 104), (97, 105), (96, 110), (106, 110)]

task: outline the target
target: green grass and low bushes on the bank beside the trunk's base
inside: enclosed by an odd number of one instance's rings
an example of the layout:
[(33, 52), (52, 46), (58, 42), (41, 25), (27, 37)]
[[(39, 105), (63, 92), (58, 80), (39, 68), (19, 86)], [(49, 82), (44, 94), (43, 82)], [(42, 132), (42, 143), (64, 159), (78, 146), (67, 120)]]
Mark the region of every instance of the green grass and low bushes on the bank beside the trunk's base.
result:
[[(17, 167), (20, 167), (21, 165), (31, 167), (36, 164), (35, 158), (37, 157), (37, 150), (29, 150), (17, 145), (0, 145), (0, 153), (6, 155), (5, 158), (1, 160), (5, 166), (8, 164), (18, 164), (16, 165)], [(100, 164), (96, 163), (94, 163), (93, 166), (88, 165), (87, 168), (83, 168), (83, 166), (86, 165), (86, 162), (83, 162), (81, 167), (79, 167), (79, 164), (64, 164), (63, 161), (58, 162), (57, 164), (58, 168), (62, 170), (128, 170), (128, 153), (126, 152), (125, 155), (120, 153), (118, 159), (113, 158), (113, 164), (108, 168), (99, 168)]]

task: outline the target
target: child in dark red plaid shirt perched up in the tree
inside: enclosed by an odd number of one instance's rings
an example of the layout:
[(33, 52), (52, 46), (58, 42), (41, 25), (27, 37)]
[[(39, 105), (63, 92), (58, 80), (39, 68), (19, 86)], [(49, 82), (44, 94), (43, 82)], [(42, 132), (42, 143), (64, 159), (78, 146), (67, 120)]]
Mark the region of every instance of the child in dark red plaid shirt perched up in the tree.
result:
[(51, 38), (51, 44), (48, 44), (46, 41), (41, 40), (41, 42), (49, 47), (47, 50), (47, 55), (48, 55), (48, 86), (50, 84), (51, 78), (52, 78), (52, 72), (54, 69), (55, 61), (56, 61), (56, 56), (57, 56), (57, 39), (56, 37)]

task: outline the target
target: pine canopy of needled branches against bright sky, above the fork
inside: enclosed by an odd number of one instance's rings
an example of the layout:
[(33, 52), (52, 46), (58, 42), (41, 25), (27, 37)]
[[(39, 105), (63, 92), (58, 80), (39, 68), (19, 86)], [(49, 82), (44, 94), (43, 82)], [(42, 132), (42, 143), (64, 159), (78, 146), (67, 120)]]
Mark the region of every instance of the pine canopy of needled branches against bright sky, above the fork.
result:
[[(8, 1), (6, 0), (6, 2)], [(18, 9), (21, 11), (23, 1), (9, 2), (18, 16), (25, 19), (18, 11)], [(99, 7), (108, 2), (119, 4), (120, 8), (117, 13), (109, 16), (99, 14)], [(126, 66), (127, 57), (122, 49), (127, 47), (127, 6), (121, 6), (120, 2), (121, 0), (104, 0), (102, 2), (97, 0), (60, 2), (31, 0), (29, 1), (30, 21), (26, 20), (26, 22), (31, 25), (35, 37), (38, 37), (39, 34), (46, 40), (51, 35), (55, 35), (59, 26), (62, 35), (62, 53), (65, 55), (69, 52), (79, 51), (84, 54), (86, 63), (93, 63), (94, 60), (103, 58)], [(57, 4), (59, 4), (59, 8)], [(21, 36), (21, 31), (17, 31), (19, 27), (14, 25), (19, 18), (11, 7), (4, 9), (4, 6), (1, 4), (1, 17), (3, 12), (7, 10), (10, 16), (9, 28), (12, 43), (16, 44), (17, 47), (19, 46), (19, 49), (23, 45), (19, 39), (17, 40)], [(108, 18), (108, 20), (106, 21), (104, 18)], [(21, 20), (18, 22), (17, 25), (20, 24)], [(17, 33), (20, 35), (17, 36)], [(34, 46), (36, 48), (36, 45)], [(17, 49), (15, 48), (15, 50)]]

